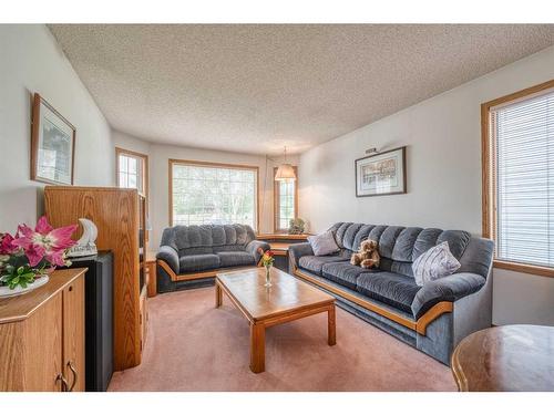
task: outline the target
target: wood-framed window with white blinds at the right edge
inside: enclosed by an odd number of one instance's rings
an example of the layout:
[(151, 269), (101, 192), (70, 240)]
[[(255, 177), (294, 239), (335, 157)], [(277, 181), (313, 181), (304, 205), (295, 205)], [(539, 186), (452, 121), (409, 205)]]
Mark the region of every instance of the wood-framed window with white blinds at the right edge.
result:
[(483, 104), (483, 137), (495, 264), (554, 274), (554, 81)]

